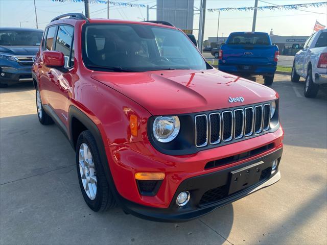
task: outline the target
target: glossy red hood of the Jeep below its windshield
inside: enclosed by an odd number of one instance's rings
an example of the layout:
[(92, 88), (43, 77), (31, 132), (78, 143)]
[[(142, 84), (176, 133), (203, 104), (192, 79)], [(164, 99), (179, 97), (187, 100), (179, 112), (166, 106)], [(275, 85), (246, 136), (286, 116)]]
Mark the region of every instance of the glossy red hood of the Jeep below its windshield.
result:
[[(152, 115), (217, 110), (276, 99), (264, 85), (216, 69), (137, 73), (94, 71), (91, 77), (128, 96)], [(242, 102), (228, 102), (243, 97)]]

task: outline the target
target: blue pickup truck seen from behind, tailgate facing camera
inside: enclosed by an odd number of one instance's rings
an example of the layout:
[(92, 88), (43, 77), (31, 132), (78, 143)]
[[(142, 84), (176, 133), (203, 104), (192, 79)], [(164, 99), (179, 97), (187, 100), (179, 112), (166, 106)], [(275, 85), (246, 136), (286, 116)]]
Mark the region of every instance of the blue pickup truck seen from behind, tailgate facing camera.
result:
[(262, 75), (270, 86), (278, 61), (278, 47), (265, 32), (232, 32), (219, 50), (218, 68), (239, 76)]

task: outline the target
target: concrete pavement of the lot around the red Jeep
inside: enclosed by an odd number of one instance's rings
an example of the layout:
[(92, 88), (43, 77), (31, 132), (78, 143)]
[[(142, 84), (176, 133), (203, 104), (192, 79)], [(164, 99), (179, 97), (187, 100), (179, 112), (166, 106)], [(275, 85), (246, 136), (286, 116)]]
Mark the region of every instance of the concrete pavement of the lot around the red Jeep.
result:
[(0, 89), (0, 244), (326, 244), (327, 92), (307, 99), (302, 87), (281, 75), (272, 85), (285, 129), (281, 181), (180, 224), (92, 212), (68, 141), (38, 122), (33, 86)]

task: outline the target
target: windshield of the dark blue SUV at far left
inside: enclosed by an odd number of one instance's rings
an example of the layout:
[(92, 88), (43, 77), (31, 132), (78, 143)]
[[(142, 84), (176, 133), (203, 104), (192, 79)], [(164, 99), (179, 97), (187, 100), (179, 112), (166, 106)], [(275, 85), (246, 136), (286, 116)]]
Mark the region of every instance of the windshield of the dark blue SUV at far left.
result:
[(43, 32), (0, 30), (0, 45), (39, 46), (42, 35)]

